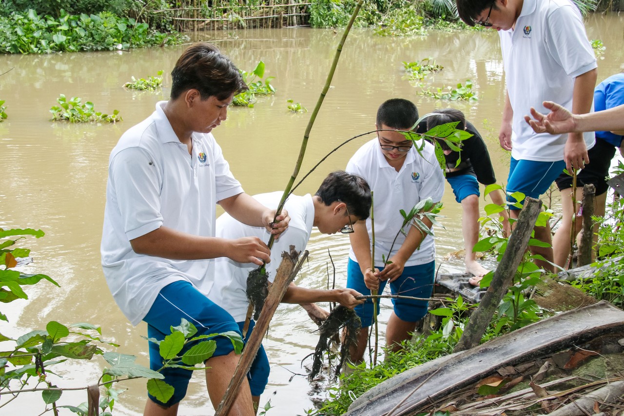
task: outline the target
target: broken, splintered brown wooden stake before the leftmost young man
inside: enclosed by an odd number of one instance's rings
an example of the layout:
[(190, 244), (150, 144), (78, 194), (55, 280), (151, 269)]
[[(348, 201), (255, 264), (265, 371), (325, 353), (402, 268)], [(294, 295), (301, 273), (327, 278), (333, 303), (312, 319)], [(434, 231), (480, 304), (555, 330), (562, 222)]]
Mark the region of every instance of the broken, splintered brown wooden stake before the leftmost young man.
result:
[(227, 390), (225, 390), (225, 395), (223, 395), (223, 399), (217, 408), (215, 416), (227, 416), (228, 412), (230, 412), (236, 395), (238, 395), (238, 389), (240, 389), (241, 383), (245, 380), (245, 377), (247, 377), (251, 364), (256, 358), (258, 349), (260, 349), (262, 337), (269, 327), (271, 318), (273, 318), (273, 314), (275, 314), (275, 310), (280, 304), (281, 298), (284, 297), (288, 285), (295, 279), (303, 262), (308, 258), (308, 250), (306, 250), (300, 258), (299, 254), (299, 252), (295, 251), (294, 245), (290, 246), (290, 254), (286, 252), (282, 253), (281, 264), (275, 274), (275, 280), (273, 280), (271, 289), (269, 289), (265, 306), (262, 308), (262, 312), (260, 312), (260, 317), (258, 317), (255, 328), (251, 331), (249, 340), (245, 345), (245, 349), (243, 349), (243, 354), (240, 357), (238, 365), (236, 365), (232, 380), (230, 380), (230, 384)]

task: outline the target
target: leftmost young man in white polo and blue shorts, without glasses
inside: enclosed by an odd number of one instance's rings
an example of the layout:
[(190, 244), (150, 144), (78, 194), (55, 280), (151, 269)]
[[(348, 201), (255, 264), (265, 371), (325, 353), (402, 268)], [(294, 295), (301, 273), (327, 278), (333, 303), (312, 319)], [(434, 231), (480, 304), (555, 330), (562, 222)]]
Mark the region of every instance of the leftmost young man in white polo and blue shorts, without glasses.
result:
[[(210, 259), (260, 265), (270, 262), (270, 250), (257, 237), (215, 237), (216, 204), (276, 235), (288, 224), (286, 214), (271, 224), (275, 210), (243, 193), (211, 133), (226, 119), (233, 96), (246, 88), (217, 47), (194, 44), (173, 68), (170, 100), (158, 102), (156, 111), (125, 132), (110, 153), (102, 267), (115, 302), (133, 325), (147, 322), (150, 338), (164, 339), (182, 318), (197, 327), (197, 335), (240, 335), (232, 316), (206, 297), (214, 279)], [(215, 341), (215, 353), (205, 364), (216, 407), (239, 357), (228, 338)], [(150, 367), (159, 370), (158, 345), (149, 342), (149, 351)], [(173, 396), (163, 403), (149, 395), (145, 415), (176, 415), (192, 371), (167, 368), (162, 374)], [(255, 414), (248, 385), (240, 389), (230, 414)]]

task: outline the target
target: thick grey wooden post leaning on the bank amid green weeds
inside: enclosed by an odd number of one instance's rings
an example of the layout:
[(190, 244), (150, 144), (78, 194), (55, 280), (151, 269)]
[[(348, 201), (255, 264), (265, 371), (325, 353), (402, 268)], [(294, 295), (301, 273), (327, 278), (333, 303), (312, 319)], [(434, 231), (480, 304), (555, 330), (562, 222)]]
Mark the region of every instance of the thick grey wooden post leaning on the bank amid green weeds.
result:
[(490, 324), (494, 312), (498, 309), (500, 300), (509, 289), (509, 285), (514, 279), (515, 272), (520, 265), (524, 252), (527, 250), (531, 232), (535, 227), (535, 220), (540, 213), (542, 201), (527, 197), (524, 207), (516, 222), (514, 231), (509, 237), (507, 249), (500, 260), (499, 267), (494, 272), (492, 283), (487, 288), (487, 292), (481, 298), (479, 307), (470, 315), (470, 320), (466, 324), (464, 334), (457, 342), (453, 352), (459, 352), (479, 345), (487, 325)]

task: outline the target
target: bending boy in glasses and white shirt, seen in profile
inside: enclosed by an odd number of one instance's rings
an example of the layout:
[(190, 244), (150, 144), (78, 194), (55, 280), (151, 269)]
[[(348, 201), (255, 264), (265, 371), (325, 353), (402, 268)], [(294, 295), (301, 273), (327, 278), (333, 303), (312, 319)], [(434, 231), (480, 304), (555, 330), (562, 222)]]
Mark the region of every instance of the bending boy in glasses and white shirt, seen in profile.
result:
[[(276, 209), (283, 192), (259, 194), (253, 198), (266, 207)], [(271, 262), (266, 264), (269, 280), (275, 278), (275, 270), (280, 266), (281, 253), (290, 251), (294, 245), (298, 251), (303, 251), (308, 244), (312, 227), (317, 227), (323, 234), (341, 232), (350, 234), (353, 226), (365, 220), (371, 209), (371, 190), (360, 176), (336, 171), (329, 174), (321, 183), (314, 196), (290, 195), (286, 200), (285, 209), (290, 215), (288, 229), (280, 235), (271, 249)], [(234, 219), (229, 214), (223, 214), (217, 219), (217, 237), (237, 239), (241, 237), (258, 237), (268, 241), (270, 234), (263, 227), (252, 227)], [(256, 269), (253, 264), (243, 264), (235, 260), (221, 257), (215, 261), (215, 276), (208, 298), (232, 315), (242, 330), (249, 301), (246, 297), (247, 277), (251, 270)], [(364, 300), (355, 299), (361, 295), (353, 289), (318, 290), (306, 289), (291, 284), (286, 290), (281, 302), (301, 304), (311, 319), (318, 324), (327, 317), (327, 312), (314, 305), (315, 302), (339, 302), (353, 308)], [(251, 321), (251, 334), (254, 322)], [(250, 387), (251, 396), (256, 406), (260, 402), (260, 395), (268, 383), (269, 362), (265, 350), (260, 347), (256, 359), (251, 365)]]

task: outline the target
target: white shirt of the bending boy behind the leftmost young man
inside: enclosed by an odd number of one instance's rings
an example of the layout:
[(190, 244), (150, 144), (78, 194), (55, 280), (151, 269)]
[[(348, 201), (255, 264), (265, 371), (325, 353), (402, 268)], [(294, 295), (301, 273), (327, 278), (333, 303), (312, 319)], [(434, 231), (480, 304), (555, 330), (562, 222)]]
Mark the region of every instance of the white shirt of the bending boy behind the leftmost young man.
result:
[[(276, 209), (283, 192), (259, 194), (254, 198), (265, 207)], [(286, 200), (285, 209), (290, 215), (288, 228), (275, 241), (271, 249), (271, 262), (266, 264), (269, 281), (275, 279), (275, 270), (280, 267), (282, 252), (289, 252), (290, 246), (303, 252), (314, 224), (314, 204), (310, 194), (306, 196), (291, 195)], [(217, 219), (217, 237), (238, 239), (241, 237), (258, 237), (268, 242), (270, 234), (264, 227), (251, 227), (233, 219), (227, 213)], [(215, 284), (208, 292), (208, 298), (223, 309), (230, 312), (236, 322), (245, 320), (249, 301), (247, 300), (247, 276), (258, 266), (251, 263), (238, 263), (227, 257), (215, 260)]]

